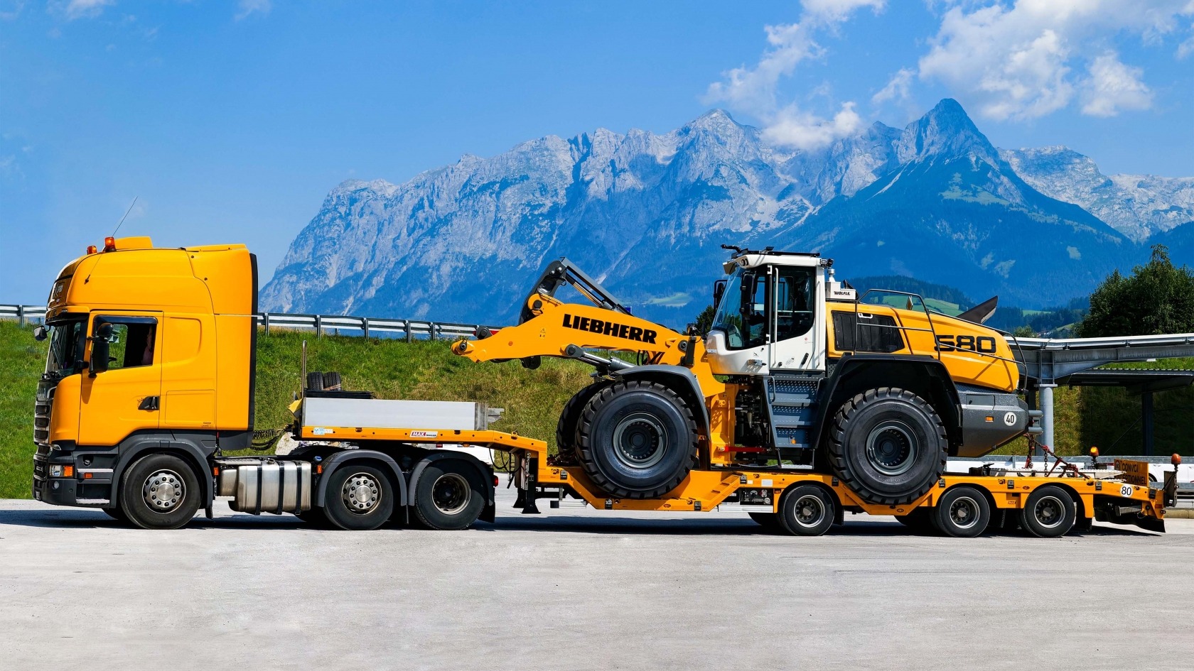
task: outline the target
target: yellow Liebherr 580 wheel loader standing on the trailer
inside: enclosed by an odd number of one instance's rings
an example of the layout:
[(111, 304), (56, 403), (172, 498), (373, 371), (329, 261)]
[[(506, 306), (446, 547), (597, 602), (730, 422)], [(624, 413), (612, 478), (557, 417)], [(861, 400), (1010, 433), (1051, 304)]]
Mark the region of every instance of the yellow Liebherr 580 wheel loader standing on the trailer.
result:
[[(634, 316), (562, 259), (518, 326), (454, 351), (592, 364), (593, 382), (560, 417), (556, 460), (615, 499), (661, 497), (694, 469), (752, 468), (832, 473), (866, 501), (907, 504), (947, 457), (1035, 430), (1007, 340), (981, 325), (990, 303), (950, 318), (907, 294), (860, 301), (818, 254), (727, 248), (708, 336)], [(565, 284), (592, 304), (558, 300)]]

